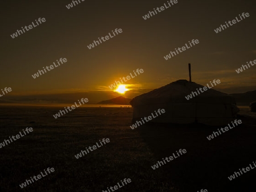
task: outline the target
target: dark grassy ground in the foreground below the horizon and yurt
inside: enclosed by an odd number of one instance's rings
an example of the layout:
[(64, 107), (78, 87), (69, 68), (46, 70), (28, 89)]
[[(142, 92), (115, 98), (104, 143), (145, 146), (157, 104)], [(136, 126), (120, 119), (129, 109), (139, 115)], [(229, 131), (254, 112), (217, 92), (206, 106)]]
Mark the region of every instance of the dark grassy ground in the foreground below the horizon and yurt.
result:
[[(116, 191), (255, 191), (256, 169), (233, 181), (228, 176), (256, 161), (256, 119), (242, 108), (242, 120), (208, 140), (216, 128), (146, 124), (131, 130), (132, 108), (0, 106), (0, 143), (26, 127), (33, 132), (0, 149), (0, 191), (102, 191), (124, 178)], [(110, 143), (79, 159), (98, 140)], [(179, 149), (187, 153), (153, 170)], [(20, 188), (46, 168), (55, 172)]]

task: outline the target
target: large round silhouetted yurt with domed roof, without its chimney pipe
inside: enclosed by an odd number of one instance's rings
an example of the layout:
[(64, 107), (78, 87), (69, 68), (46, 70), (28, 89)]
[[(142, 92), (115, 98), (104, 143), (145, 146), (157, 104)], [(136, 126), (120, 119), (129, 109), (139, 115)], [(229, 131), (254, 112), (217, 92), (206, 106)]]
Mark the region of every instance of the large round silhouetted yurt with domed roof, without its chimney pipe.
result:
[[(212, 88), (199, 94), (197, 90), (202, 90), (203, 87), (195, 82), (178, 80), (139, 95), (130, 102), (133, 106), (133, 122), (151, 115), (160, 108), (166, 112), (150, 122), (203, 123), (210, 126), (231, 123), (239, 111), (234, 97)], [(198, 94), (187, 99), (192, 91)]]

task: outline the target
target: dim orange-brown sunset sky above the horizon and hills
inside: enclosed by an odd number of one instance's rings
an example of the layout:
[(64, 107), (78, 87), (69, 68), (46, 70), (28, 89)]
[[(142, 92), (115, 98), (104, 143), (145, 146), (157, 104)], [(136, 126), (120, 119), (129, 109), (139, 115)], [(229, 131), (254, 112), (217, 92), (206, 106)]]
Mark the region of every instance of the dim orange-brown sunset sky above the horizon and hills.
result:
[[(5, 2), (0, 88), (11, 87), (10, 96), (85, 93), (86, 97), (88, 93), (92, 100), (101, 101), (118, 96), (108, 87), (114, 81), (143, 69), (144, 73), (127, 81), (133, 90), (125, 97), (134, 97), (179, 79), (188, 80), (190, 62), (192, 81), (198, 84), (220, 79), (216, 89), (225, 93), (256, 89), (255, 66), (240, 74), (235, 71), (256, 59), (255, 2), (184, 1), (150, 19), (142, 18), (164, 2), (86, 2), (68, 10), (65, 5), (70, 1), (52, 2), (51, 6), (31, 1), (26, 7), (29, 12), (20, 9), (23, 2)], [(242, 12), (249, 12), (250, 17), (214, 32)], [(46, 18), (46, 22), (15, 39), (10, 37), (38, 18)], [(93, 40), (115, 28), (122, 28), (122, 33), (88, 49)], [(163, 58), (192, 39), (200, 43), (169, 60)], [(60, 58), (68, 61), (32, 78)]]

